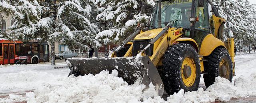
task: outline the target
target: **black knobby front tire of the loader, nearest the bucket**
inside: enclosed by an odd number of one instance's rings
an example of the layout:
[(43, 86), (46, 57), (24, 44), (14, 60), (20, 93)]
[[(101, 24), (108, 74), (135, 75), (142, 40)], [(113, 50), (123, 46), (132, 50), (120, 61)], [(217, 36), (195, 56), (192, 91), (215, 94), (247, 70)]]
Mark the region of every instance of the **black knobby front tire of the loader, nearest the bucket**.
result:
[[(182, 63), (185, 58), (189, 58), (194, 62), (194, 83), (186, 86), (182, 80)], [(178, 92), (180, 89), (184, 91), (196, 91), (200, 83), (200, 62), (195, 48), (190, 44), (179, 43), (169, 47), (164, 54), (162, 61), (162, 79), (164, 88), (169, 95)], [(185, 65), (184, 65), (185, 67)], [(184, 71), (184, 70), (183, 70)], [(192, 73), (191, 73), (192, 74)], [(190, 76), (188, 76), (190, 77)]]

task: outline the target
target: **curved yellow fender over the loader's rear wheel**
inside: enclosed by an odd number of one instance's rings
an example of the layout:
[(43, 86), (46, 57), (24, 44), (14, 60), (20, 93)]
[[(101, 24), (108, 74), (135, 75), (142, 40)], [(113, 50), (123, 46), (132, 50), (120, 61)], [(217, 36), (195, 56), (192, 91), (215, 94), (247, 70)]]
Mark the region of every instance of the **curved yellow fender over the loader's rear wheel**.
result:
[(199, 55), (208, 56), (218, 47), (226, 48), (224, 42), (208, 34), (202, 42)]

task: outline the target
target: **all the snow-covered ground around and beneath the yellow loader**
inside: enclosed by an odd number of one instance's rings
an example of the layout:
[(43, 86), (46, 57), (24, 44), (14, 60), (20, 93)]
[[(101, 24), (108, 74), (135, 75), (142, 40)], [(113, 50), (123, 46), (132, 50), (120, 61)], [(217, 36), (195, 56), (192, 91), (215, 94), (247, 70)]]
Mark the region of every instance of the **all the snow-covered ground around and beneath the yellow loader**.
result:
[(152, 89), (142, 93), (144, 85), (138, 82), (128, 85), (115, 71), (67, 77), (68, 68), (52, 69), (50, 64), (0, 65), (0, 103), (208, 103), (256, 97), (256, 53), (238, 53), (235, 59), (237, 76), (232, 83), (218, 77), (205, 89), (201, 78), (198, 91), (181, 90), (167, 101)]

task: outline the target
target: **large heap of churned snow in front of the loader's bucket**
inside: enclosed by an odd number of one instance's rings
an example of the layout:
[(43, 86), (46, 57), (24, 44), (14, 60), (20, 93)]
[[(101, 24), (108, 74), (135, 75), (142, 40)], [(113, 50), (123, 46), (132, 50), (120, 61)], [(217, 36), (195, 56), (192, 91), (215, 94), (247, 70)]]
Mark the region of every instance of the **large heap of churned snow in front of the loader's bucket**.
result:
[(34, 93), (27, 93), (27, 101), (28, 103), (134, 103), (143, 98), (141, 96), (144, 85), (139, 85), (138, 81), (134, 85), (128, 85), (117, 76), (116, 70), (112, 71), (112, 74), (102, 71), (95, 76), (89, 74), (63, 79), (60, 87), (45, 83)]

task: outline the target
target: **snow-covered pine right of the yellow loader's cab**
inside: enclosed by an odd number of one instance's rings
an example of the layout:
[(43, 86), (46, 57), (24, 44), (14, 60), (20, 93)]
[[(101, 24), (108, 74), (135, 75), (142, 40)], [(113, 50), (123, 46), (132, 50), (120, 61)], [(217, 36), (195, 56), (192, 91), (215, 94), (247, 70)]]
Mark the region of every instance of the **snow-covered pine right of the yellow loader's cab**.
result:
[(248, 0), (213, 0), (213, 2), (219, 6), (220, 16), (226, 19), (224, 36), (235, 38), (236, 46), (242, 47), (255, 32), (255, 19), (250, 17), (254, 10)]

